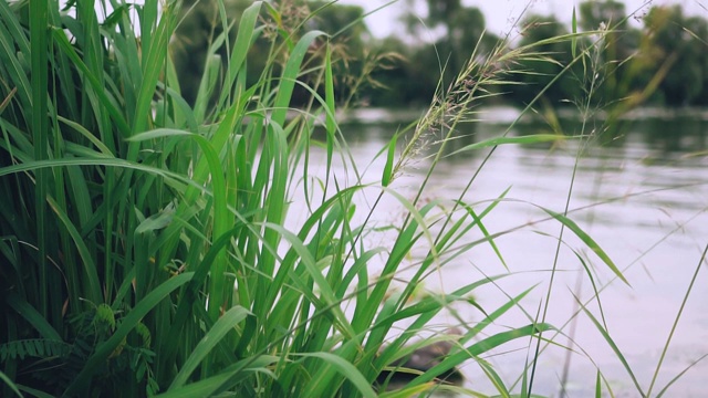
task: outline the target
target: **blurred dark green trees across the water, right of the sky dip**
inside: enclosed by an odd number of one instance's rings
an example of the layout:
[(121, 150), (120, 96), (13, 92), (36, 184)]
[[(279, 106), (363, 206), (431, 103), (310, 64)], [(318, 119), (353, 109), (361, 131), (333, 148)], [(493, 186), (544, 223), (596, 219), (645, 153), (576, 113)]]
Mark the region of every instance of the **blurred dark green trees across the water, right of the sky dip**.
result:
[[(385, 38), (374, 44), (379, 52), (397, 49), (405, 59), (374, 72), (376, 81), (389, 88), (367, 93), (377, 106), (421, 105), (436, 92), (440, 71), (444, 86), (448, 86), (456, 72), (466, 67), (472, 50), (479, 57), (491, 57), (494, 45), (502, 40), (485, 32), (485, 15), (460, 1), (408, 0), (407, 6), (412, 11), (403, 17), (403, 23), (408, 35)], [(421, 6), (427, 8), (423, 19), (413, 11)], [(702, 15), (684, 15), (679, 4), (652, 6), (642, 14), (627, 15), (625, 4), (620, 1), (582, 1), (570, 27), (553, 15), (522, 17), (512, 28), (519, 35), (510, 33), (503, 40), (512, 41), (509, 45), (516, 50), (537, 43), (535, 53), (527, 52), (527, 56), (518, 60), (520, 65), (509, 77), (522, 84), (503, 87), (509, 95), (489, 101), (503, 100), (524, 106), (575, 59), (577, 52), (573, 48), (596, 46), (592, 67), (603, 81), (594, 93), (597, 106), (612, 107), (628, 100), (622, 106), (624, 113), (642, 104), (671, 107), (707, 104), (704, 54), (708, 22)], [(632, 27), (629, 19), (642, 21), (644, 27)], [(570, 42), (548, 40), (569, 32), (576, 34)], [(593, 33), (595, 38), (583, 33)], [(587, 69), (579, 64), (568, 72), (563, 72), (560, 84), (545, 90), (542, 101), (546, 105), (572, 106), (586, 95), (581, 87), (586, 84), (583, 80), (587, 78)]]

